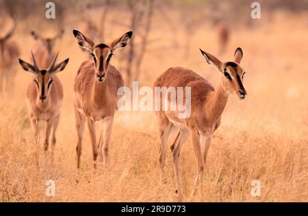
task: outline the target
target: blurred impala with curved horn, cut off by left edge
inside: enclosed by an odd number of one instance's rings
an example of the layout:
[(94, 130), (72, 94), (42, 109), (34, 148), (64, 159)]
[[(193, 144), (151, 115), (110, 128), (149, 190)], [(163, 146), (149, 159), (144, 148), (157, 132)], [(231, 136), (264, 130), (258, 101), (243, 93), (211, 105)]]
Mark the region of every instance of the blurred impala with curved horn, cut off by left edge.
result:
[(6, 89), (13, 83), (16, 75), (16, 63), (19, 56), (18, 45), (14, 40), (11, 40), (14, 31), (16, 30), (16, 20), (12, 18), (13, 25), (8, 33), (2, 38), (0, 37), (0, 92), (3, 88), (3, 83), (6, 83)]

